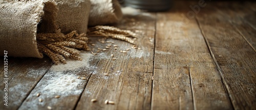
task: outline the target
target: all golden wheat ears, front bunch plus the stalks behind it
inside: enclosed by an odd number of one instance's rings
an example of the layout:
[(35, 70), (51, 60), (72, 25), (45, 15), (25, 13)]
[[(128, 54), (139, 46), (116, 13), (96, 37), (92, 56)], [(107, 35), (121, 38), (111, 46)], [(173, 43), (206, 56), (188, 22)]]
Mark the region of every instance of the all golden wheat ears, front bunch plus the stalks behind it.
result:
[(87, 35), (110, 37), (132, 44), (136, 40), (136, 34), (132, 31), (111, 26), (96, 26), (89, 28), (87, 34), (78, 34), (76, 31), (72, 31), (65, 35), (60, 30), (56, 33), (38, 33), (36, 36), (38, 50), (49, 56), (55, 64), (67, 63), (66, 58), (82, 60), (79, 50), (90, 51)]

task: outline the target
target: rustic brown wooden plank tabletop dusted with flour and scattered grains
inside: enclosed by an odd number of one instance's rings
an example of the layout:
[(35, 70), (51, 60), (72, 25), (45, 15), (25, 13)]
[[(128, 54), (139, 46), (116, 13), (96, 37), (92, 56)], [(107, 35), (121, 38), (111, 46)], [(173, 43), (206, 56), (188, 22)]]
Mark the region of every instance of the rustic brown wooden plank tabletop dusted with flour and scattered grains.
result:
[[(8, 106), (1, 65), (0, 109), (256, 109), (255, 2), (175, 1), (167, 12), (123, 13), (114, 26), (136, 32), (141, 50), (108, 38), (117, 50), (83, 52), (66, 67), (8, 57)], [(109, 44), (100, 38), (90, 37), (94, 52)]]

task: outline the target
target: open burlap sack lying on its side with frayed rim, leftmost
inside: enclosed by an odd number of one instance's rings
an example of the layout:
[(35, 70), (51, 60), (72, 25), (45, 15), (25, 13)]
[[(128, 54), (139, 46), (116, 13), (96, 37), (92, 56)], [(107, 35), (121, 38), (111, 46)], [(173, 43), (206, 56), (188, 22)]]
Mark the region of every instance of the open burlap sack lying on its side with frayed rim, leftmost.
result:
[[(1, 0), (0, 52), (8, 51), (8, 56), (42, 58), (42, 54), (37, 50), (37, 29), (55, 32), (56, 14), (57, 7), (52, 1)], [(37, 28), (41, 20), (41, 27)]]

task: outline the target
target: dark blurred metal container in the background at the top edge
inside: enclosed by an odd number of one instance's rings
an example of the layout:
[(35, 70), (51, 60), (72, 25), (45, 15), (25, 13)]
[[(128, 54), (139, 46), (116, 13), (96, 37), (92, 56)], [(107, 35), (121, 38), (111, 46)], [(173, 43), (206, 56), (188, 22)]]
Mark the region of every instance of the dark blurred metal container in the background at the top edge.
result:
[(166, 11), (171, 7), (171, 0), (125, 0), (124, 4), (148, 11)]

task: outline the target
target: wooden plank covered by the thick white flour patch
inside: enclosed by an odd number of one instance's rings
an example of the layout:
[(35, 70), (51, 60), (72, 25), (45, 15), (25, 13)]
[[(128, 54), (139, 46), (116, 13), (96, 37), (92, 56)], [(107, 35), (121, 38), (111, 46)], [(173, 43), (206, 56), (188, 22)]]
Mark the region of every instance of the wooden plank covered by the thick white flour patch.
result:
[(91, 60), (94, 57), (90, 52), (82, 52), (81, 57), (82, 61), (67, 60), (67, 64), (53, 65), (19, 109), (74, 109), (97, 63)]

